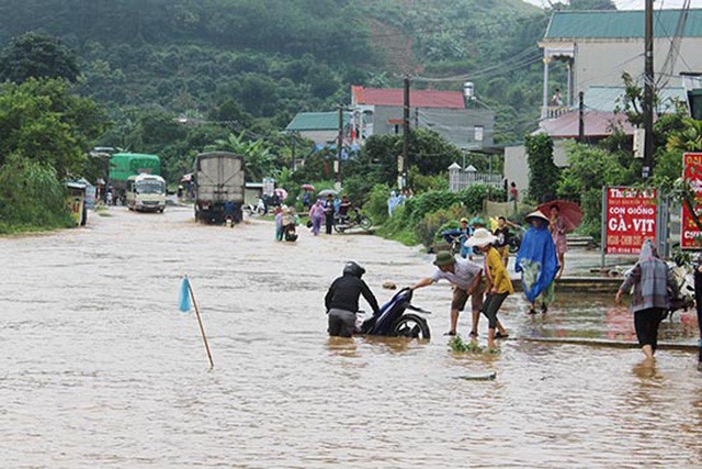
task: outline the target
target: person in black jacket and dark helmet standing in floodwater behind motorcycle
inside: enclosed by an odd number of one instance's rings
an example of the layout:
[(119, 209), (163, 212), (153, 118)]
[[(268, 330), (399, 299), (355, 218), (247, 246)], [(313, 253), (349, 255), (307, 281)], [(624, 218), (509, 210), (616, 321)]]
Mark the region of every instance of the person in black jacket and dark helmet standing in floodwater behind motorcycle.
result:
[(355, 327), (355, 312), (359, 311), (359, 297), (363, 294), (365, 301), (377, 314), (377, 300), (369, 286), (361, 280), (365, 269), (356, 263), (347, 263), (343, 275), (336, 279), (325, 297), (325, 306), (329, 315), (329, 335), (351, 337)]

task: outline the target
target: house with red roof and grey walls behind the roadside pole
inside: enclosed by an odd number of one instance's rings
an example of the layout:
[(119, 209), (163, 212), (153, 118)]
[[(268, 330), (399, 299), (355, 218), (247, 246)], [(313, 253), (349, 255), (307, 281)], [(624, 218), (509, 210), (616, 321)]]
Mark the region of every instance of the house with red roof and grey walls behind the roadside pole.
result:
[[(492, 146), (495, 113), (466, 105), (461, 91), (410, 90), (410, 129), (431, 129), (460, 148)], [(404, 90), (351, 87), (352, 136), (404, 132)]]

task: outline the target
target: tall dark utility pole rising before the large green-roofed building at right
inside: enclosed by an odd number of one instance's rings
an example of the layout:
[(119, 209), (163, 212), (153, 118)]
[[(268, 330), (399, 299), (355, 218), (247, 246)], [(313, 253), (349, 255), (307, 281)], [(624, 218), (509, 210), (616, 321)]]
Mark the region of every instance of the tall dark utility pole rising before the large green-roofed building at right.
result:
[(642, 179), (653, 176), (654, 164), (654, 0), (646, 0), (644, 62), (644, 167)]

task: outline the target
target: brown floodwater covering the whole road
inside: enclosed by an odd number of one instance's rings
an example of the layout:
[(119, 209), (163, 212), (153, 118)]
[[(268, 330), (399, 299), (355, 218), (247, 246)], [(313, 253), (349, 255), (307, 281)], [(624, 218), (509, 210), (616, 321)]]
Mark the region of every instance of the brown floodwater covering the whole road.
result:
[[(610, 298), (510, 297), (498, 356), (454, 354), (450, 289), (419, 290), (430, 343), (330, 339), (324, 294), (355, 259), (381, 302), (432, 256), (373, 236), (273, 242), (271, 223), (196, 225), (111, 209), (86, 230), (0, 239), (2, 467), (699, 467), (702, 373), (689, 351), (535, 344), (633, 339)], [(215, 362), (193, 313), (191, 278)], [(468, 317), (460, 331), (468, 330)], [(661, 339), (695, 343), (691, 313)], [(485, 343), (487, 322), (480, 323)], [(496, 371), (494, 381), (457, 379)]]

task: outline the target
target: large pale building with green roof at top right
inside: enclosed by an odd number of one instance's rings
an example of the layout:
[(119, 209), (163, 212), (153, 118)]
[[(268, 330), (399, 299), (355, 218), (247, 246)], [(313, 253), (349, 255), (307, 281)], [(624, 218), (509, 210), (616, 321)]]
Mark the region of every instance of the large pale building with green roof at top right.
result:
[[(702, 10), (657, 10), (654, 36), (659, 89), (680, 87), (680, 72), (702, 71)], [(542, 118), (555, 118), (577, 104), (580, 91), (622, 87), (623, 72), (641, 81), (644, 11), (556, 11), (539, 45), (544, 52)], [(566, 82), (550, 80), (553, 67), (565, 67)], [(556, 87), (561, 99), (554, 96)]]

